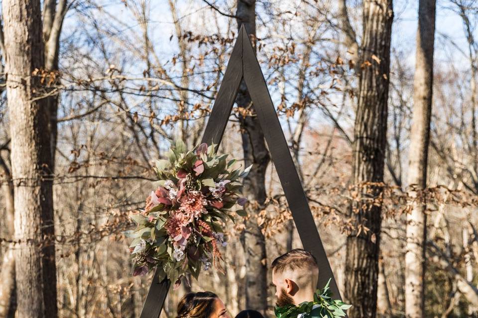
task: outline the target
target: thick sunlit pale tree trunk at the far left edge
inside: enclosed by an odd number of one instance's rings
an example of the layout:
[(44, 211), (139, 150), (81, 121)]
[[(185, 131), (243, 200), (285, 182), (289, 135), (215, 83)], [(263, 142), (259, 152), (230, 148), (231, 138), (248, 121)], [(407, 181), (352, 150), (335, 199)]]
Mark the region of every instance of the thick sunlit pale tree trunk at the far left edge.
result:
[[(44, 65), (40, 2), (4, 0), (3, 20), (6, 91), (11, 136), (11, 174), (15, 207), (15, 271), (18, 317), (56, 317), (56, 276), (43, 279), (42, 253), (50, 253), (52, 231), (52, 181), (50, 176), (49, 110), (44, 106), (39, 77)], [(42, 229), (45, 229), (43, 231)], [(43, 246), (42, 246), (43, 244)], [(50, 244), (50, 246), (48, 246)], [(51, 257), (51, 254), (47, 254)], [(46, 260), (46, 258), (43, 258)], [(46, 262), (54, 266), (53, 261)], [(43, 266), (45, 266), (43, 261)], [(53, 293), (50, 294), (50, 293)], [(44, 306), (54, 297), (55, 306)]]

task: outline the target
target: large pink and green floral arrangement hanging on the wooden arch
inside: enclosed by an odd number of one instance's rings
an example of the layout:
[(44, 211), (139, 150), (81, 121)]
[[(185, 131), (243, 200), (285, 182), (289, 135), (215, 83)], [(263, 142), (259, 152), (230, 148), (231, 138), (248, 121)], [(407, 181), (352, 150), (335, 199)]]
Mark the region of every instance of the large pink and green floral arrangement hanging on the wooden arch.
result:
[[(196, 279), (201, 269), (221, 268), (219, 246), (227, 243), (222, 226), (229, 218), (245, 216), (245, 198), (240, 197), (240, 178), (250, 166), (240, 168), (237, 160), (217, 155), (215, 146), (201, 144), (186, 152), (182, 141), (172, 146), (167, 160), (157, 160), (158, 181), (140, 213), (131, 215), (137, 224), (126, 231), (133, 275), (159, 269), (177, 288), (185, 273)], [(239, 166), (239, 167), (238, 167)]]

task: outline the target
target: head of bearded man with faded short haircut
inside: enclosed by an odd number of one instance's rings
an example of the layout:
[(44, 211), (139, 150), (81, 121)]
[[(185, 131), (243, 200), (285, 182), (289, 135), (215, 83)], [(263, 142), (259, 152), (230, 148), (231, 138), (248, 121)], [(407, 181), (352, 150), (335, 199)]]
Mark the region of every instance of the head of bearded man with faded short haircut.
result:
[(277, 257), (271, 268), (278, 307), (297, 306), (314, 300), (319, 267), (310, 252), (300, 248), (288, 251)]

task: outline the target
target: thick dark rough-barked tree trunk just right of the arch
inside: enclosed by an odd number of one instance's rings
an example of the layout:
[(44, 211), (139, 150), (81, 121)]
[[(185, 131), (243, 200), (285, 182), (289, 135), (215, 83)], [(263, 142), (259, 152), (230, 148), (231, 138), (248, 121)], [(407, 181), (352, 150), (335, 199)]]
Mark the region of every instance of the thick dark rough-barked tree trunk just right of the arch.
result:
[[(363, 36), (360, 56), (359, 100), (354, 128), (353, 184), (359, 195), (374, 198), (383, 182), (387, 132), (390, 64), (391, 0), (363, 1)], [(345, 295), (354, 306), (349, 317), (375, 317), (381, 206), (353, 202), (351, 216), (370, 231), (356, 230), (347, 238)]]

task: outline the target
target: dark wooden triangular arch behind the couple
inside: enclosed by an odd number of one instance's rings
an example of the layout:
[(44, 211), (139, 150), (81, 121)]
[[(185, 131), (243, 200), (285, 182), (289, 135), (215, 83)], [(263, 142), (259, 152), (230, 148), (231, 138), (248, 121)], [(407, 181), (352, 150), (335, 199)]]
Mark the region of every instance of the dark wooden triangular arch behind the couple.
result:
[[(275, 112), (259, 62), (243, 25), (239, 30), (238, 39), (214, 102), (202, 142), (214, 143), (218, 146), (221, 143), (242, 79), (244, 79), (252, 99), (302, 245), (304, 249), (312, 252), (317, 258), (319, 264), (318, 287), (325, 286), (331, 278), (330, 289), (334, 293), (334, 297), (340, 299), (334, 274), (290, 155), (284, 132)], [(167, 279), (160, 282), (157, 273), (155, 273), (140, 318), (159, 317), (170, 284)]]

